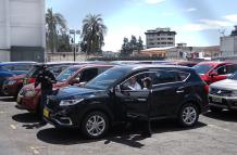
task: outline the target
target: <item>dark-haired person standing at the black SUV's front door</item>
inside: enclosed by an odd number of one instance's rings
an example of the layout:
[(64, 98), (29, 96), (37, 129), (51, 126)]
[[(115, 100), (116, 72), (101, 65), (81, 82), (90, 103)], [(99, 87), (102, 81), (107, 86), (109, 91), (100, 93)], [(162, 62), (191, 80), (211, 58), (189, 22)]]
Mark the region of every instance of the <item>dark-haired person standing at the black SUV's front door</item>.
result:
[[(146, 77), (142, 79), (144, 82), (144, 89), (145, 91), (149, 91), (152, 87), (151, 83), (151, 78)], [(151, 127), (150, 127), (150, 100), (149, 95), (150, 92), (148, 92), (148, 100), (147, 100), (147, 114), (145, 114), (145, 118), (142, 119), (142, 132), (141, 135), (145, 138), (150, 138), (151, 137)]]

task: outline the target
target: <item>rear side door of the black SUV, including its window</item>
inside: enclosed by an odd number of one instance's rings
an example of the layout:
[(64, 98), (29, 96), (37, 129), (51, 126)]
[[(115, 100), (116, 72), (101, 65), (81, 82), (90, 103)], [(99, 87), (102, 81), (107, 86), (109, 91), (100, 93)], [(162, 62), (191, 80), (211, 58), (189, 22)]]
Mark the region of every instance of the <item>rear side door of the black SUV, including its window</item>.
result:
[(152, 77), (152, 99), (155, 116), (165, 117), (174, 113), (182, 99), (184, 99), (186, 87), (184, 80), (188, 77), (186, 73), (173, 70), (155, 70)]

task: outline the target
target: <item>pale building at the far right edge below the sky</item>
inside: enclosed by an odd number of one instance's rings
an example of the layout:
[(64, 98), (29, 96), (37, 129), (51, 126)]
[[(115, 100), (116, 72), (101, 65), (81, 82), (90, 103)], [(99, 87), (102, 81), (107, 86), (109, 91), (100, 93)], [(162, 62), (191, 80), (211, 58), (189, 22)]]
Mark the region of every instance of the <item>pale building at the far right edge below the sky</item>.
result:
[(237, 26), (229, 36), (221, 37), (221, 57), (237, 56)]

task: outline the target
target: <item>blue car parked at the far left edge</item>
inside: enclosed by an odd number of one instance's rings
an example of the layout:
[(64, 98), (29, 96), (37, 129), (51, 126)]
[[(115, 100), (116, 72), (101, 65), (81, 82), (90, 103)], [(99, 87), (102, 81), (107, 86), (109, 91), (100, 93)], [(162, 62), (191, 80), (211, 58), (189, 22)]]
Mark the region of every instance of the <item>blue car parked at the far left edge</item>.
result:
[(0, 63), (0, 94), (2, 85), (9, 77), (26, 74), (36, 62), (5, 62)]

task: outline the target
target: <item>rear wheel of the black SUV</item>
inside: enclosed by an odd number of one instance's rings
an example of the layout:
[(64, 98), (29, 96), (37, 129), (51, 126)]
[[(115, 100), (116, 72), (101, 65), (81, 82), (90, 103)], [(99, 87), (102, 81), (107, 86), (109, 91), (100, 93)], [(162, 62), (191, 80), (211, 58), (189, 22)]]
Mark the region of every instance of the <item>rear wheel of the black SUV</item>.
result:
[(186, 103), (178, 113), (178, 122), (182, 127), (194, 127), (199, 118), (199, 112), (194, 103)]

